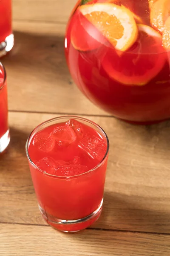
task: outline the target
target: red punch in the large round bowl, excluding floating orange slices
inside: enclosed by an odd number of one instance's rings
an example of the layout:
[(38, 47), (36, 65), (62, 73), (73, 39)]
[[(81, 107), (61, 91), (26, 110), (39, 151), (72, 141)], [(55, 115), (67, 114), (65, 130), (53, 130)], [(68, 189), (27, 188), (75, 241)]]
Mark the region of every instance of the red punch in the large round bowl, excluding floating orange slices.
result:
[[(90, 3), (101, 2), (107, 1)], [(147, 1), (119, 2), (151, 28)], [(153, 40), (153, 43), (152, 40), (152, 35), (146, 37), (140, 32), (130, 49), (118, 52), (76, 9), (68, 22), (65, 37), (65, 54), (71, 76), (88, 99), (120, 119), (136, 123), (168, 119), (170, 52), (163, 49), (159, 40)], [(76, 49), (73, 41), (82, 50)], [(134, 70), (139, 75), (138, 80), (134, 80)], [(140, 79), (146, 81), (145, 84), (140, 84)]]

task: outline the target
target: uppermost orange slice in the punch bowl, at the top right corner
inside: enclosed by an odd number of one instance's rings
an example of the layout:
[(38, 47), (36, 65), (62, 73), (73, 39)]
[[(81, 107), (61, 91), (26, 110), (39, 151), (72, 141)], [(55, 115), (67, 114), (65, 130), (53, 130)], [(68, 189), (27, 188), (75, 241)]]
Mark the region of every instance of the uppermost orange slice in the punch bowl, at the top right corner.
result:
[(170, 0), (157, 0), (150, 10), (150, 23), (159, 32), (163, 32), (164, 23), (170, 16)]

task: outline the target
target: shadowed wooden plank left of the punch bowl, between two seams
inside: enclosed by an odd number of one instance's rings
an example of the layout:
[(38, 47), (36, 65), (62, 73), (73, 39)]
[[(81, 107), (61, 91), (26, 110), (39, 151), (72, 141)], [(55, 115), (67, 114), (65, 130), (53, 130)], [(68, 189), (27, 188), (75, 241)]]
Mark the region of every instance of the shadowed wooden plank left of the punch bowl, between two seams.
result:
[(65, 25), (14, 22), (15, 45), (3, 58), (10, 110), (106, 114), (79, 91), (64, 55)]

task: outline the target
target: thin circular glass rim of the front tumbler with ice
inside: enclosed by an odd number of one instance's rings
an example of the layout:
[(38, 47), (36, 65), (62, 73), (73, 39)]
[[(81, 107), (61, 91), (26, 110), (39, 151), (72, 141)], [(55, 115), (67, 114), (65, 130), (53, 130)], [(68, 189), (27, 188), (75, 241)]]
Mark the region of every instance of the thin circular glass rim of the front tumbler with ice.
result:
[[(98, 128), (102, 134), (105, 136), (105, 139), (106, 139), (106, 143), (107, 143), (107, 150), (106, 150), (106, 153), (104, 155), (104, 157), (102, 158), (102, 160), (92, 169), (90, 169), (88, 172), (84, 172), (82, 174), (79, 174), (79, 175), (74, 175), (74, 176), (58, 176), (58, 175), (52, 175), (52, 174), (48, 174), (47, 172), (44, 172), (42, 169), (40, 169), (39, 167), (37, 167), (33, 161), (31, 160), (31, 157), (29, 155), (29, 152), (28, 152), (28, 146), (29, 146), (29, 143), (31, 142), (31, 137), (33, 136), (33, 134), (36, 134), (36, 131), (41, 128), (43, 125), (45, 124), (48, 124), (48, 123), (51, 123), (55, 120), (60, 120), (60, 119), (64, 119), (64, 118), (68, 118), (68, 119), (79, 119), (79, 120), (82, 120), (82, 121), (85, 121), (85, 122), (88, 122), (88, 123), (91, 123), (92, 125), (94, 125), (96, 128)], [(58, 117), (54, 117), (54, 118), (51, 118), (51, 119), (48, 119), (44, 122), (42, 122), (40, 125), (37, 125), (33, 131), (31, 131), (30, 135), (28, 136), (28, 139), (26, 141), (26, 156), (27, 156), (27, 159), (29, 161), (29, 163), (31, 163), (31, 165), (34, 167), (34, 169), (37, 169), (38, 171), (42, 172), (42, 174), (45, 173), (45, 175), (49, 176), (49, 177), (56, 177), (56, 178), (59, 178), (59, 179), (67, 179), (67, 178), (76, 178), (76, 177), (79, 177), (79, 176), (82, 176), (82, 175), (86, 175), (88, 173), (91, 173), (91, 172), (94, 172), (96, 169), (98, 169), (100, 166), (102, 166), (103, 162), (105, 161), (106, 157), (108, 156), (108, 152), (109, 152), (109, 139), (108, 139), (108, 135), (105, 133), (105, 131), (102, 129), (102, 127), (100, 127), (99, 125), (97, 125), (95, 122), (87, 119), (87, 118), (84, 118), (84, 117), (80, 117), (80, 116), (74, 116), (74, 115), (66, 115), (66, 116), (58, 116)]]

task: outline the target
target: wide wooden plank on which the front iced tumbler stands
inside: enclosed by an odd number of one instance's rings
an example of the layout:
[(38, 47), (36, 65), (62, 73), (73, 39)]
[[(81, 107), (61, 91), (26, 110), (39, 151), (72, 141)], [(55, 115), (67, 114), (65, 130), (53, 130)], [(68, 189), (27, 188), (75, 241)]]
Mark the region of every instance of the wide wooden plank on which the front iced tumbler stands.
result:
[[(0, 221), (45, 224), (34, 195), (25, 155), (30, 131), (54, 117), (9, 113), (11, 144), (0, 156)], [(170, 122), (135, 126), (91, 116), (105, 129), (111, 148), (102, 216), (93, 226), (170, 233)]]

